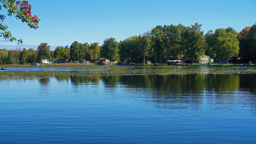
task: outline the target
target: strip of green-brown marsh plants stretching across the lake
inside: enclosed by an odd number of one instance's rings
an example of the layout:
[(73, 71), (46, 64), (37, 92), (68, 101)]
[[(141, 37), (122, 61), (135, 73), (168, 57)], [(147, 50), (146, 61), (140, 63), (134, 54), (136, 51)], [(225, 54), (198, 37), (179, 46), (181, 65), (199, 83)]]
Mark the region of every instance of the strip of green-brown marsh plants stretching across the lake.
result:
[(186, 74), (255, 74), (256, 67), (247, 68), (200, 68), (200, 67), (105, 67), (83, 71), (1, 71), (0, 77), (52, 77), (63, 75), (75, 76), (110, 76), (110, 75), (186, 75)]

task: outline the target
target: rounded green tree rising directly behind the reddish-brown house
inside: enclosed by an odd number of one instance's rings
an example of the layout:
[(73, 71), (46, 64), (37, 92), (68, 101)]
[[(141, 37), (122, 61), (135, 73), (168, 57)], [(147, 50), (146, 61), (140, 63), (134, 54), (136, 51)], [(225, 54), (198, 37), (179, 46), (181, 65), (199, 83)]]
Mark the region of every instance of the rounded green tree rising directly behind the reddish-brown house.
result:
[(105, 39), (102, 45), (101, 56), (110, 59), (110, 61), (119, 60), (118, 42), (113, 37)]

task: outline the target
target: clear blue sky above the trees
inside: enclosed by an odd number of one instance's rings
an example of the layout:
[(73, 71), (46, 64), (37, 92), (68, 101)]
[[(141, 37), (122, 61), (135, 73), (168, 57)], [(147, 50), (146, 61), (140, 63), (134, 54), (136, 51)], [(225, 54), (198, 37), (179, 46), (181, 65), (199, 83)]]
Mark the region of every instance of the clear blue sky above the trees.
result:
[[(143, 34), (157, 25), (203, 24), (203, 31), (233, 27), (241, 31), (256, 22), (256, 0), (29, 0), (39, 29), (16, 18), (5, 23), (23, 44), (51, 46), (72, 42), (118, 41)], [(1, 39), (3, 40), (3, 39)], [(17, 42), (0, 42), (16, 45)]]

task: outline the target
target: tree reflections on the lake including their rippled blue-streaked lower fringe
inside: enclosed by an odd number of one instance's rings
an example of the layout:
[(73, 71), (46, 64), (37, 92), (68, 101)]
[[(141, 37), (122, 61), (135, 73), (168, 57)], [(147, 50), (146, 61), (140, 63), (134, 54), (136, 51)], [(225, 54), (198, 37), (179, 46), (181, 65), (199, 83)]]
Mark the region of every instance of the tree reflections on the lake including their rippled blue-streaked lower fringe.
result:
[[(36, 78), (36, 77), (34, 77)], [(48, 86), (52, 77), (40, 77), (41, 86)], [(0, 80), (10, 80), (11, 77), (1, 77)], [(34, 80), (32, 77), (20, 77), (20, 80)], [(163, 104), (194, 104), (203, 102), (214, 105), (216, 102), (237, 102), (239, 96), (241, 105), (247, 102), (255, 107), (256, 75), (135, 75), (86, 77), (63, 75), (55, 79), (61, 83), (71, 82), (73, 86), (100, 85), (105, 88), (124, 88), (130, 94), (137, 94), (135, 99), (144, 99), (157, 105)], [(15, 80), (18, 80), (15, 78)], [(140, 94), (140, 95), (138, 95)], [(219, 100), (217, 100), (219, 99)], [(256, 109), (256, 108), (255, 108)]]

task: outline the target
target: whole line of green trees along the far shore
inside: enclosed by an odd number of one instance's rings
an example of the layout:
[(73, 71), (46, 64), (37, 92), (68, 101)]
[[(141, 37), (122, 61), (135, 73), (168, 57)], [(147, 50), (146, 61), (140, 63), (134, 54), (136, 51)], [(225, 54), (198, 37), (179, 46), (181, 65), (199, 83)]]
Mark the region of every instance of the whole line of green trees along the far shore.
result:
[(50, 50), (47, 43), (41, 43), (37, 50), (0, 50), (0, 64), (29, 64), (42, 59), (69, 59), (69, 61), (96, 61), (108, 58), (110, 61), (130, 61), (145, 64), (146, 61), (164, 63), (166, 60), (181, 59), (197, 62), (204, 54), (214, 61), (256, 62), (256, 24), (246, 26), (239, 33), (233, 28), (216, 29), (206, 34), (202, 25), (156, 26), (139, 36), (132, 36), (117, 42), (115, 38), (99, 42), (73, 42), (70, 47)]

